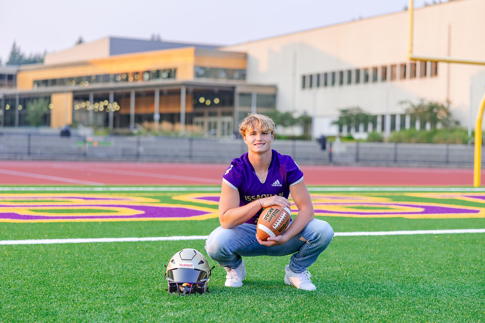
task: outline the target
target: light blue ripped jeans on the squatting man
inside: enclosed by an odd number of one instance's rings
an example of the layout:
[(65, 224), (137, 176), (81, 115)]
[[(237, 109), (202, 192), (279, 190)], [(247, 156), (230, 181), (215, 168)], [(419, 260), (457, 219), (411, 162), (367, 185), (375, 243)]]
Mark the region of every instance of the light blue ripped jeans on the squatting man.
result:
[(293, 254), (290, 270), (303, 273), (330, 244), (333, 235), (333, 229), (327, 222), (313, 219), (286, 244), (268, 247), (260, 245), (256, 240), (256, 225), (243, 223), (231, 229), (215, 229), (210, 233), (205, 248), (212, 260), (228, 269), (238, 267), (241, 257)]

